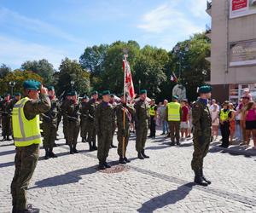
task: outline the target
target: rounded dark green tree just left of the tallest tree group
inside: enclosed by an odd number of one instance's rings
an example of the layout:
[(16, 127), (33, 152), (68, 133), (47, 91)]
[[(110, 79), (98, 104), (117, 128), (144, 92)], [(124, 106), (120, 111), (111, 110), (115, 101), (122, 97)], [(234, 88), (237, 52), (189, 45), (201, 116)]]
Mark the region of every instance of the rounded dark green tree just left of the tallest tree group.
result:
[(77, 60), (66, 58), (61, 61), (58, 82), (56, 85), (57, 95), (72, 90), (71, 82), (74, 81), (73, 89), (80, 95), (90, 92), (90, 73), (80, 66)]

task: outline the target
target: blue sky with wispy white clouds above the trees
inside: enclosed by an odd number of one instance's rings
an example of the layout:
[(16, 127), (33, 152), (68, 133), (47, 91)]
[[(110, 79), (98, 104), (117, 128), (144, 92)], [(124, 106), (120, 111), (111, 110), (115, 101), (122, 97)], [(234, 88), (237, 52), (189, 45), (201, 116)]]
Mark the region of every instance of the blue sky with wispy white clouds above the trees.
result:
[(0, 0), (0, 64), (47, 59), (57, 69), (87, 46), (136, 40), (167, 50), (210, 17), (206, 0)]

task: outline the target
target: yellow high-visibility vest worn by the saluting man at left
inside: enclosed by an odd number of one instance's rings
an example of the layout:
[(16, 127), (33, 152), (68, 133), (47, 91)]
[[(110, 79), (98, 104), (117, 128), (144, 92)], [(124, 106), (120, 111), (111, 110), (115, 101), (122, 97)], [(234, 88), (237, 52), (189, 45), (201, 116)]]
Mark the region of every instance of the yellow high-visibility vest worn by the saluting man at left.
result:
[(39, 127), (39, 115), (27, 120), (24, 114), (24, 106), (29, 98), (23, 98), (15, 104), (12, 112), (13, 134), (16, 147), (27, 147), (32, 144), (41, 143)]

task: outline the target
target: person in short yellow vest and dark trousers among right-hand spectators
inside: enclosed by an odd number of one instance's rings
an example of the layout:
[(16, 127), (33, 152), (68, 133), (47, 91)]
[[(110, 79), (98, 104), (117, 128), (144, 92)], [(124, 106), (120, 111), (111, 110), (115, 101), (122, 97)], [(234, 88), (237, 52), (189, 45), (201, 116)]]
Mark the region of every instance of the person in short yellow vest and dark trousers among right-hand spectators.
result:
[(229, 147), (230, 140), (230, 109), (229, 101), (224, 101), (223, 108), (219, 112), (219, 123), (220, 123), (220, 132), (222, 135), (222, 144), (220, 147), (227, 148)]

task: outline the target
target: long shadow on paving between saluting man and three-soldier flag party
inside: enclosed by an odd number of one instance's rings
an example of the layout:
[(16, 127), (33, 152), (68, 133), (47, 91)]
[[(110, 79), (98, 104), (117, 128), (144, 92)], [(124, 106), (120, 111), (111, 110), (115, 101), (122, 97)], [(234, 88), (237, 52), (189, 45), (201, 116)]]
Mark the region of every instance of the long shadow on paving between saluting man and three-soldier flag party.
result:
[(38, 187), (55, 187), (60, 185), (66, 185), (69, 183), (75, 183), (82, 179), (81, 176), (90, 175), (95, 173), (96, 171), (97, 165), (91, 166), (89, 168), (83, 168), (80, 170), (73, 170), (60, 176), (53, 176), (46, 178), (42, 181), (36, 181), (36, 186), (31, 187), (30, 189)]

